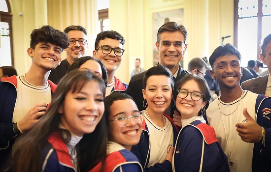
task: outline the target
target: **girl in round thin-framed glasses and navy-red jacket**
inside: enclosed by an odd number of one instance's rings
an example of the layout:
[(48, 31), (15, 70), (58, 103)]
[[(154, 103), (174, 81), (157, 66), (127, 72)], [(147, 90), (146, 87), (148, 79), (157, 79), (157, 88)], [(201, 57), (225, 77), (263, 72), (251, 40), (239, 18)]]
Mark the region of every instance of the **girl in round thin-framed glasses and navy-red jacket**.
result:
[(174, 149), (173, 172), (229, 172), (214, 129), (203, 118), (211, 98), (207, 83), (202, 77), (189, 74), (177, 83), (177, 88), (176, 108), (181, 114), (182, 129)]

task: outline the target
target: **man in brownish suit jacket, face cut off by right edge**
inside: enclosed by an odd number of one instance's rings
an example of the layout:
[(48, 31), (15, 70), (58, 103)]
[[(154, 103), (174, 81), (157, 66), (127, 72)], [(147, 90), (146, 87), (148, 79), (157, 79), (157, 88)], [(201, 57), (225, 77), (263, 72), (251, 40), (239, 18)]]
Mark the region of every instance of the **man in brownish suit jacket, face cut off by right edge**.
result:
[[(269, 72), (271, 71), (271, 34), (265, 37), (262, 45), (261, 60), (267, 65)], [(271, 96), (271, 76), (270, 74), (253, 78), (242, 83), (242, 89), (249, 90), (257, 94)]]

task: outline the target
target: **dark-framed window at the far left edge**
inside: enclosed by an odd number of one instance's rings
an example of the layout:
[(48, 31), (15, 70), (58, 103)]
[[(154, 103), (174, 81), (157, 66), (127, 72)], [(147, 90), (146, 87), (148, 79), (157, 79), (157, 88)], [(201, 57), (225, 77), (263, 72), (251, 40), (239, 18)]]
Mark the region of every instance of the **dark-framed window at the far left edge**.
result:
[(14, 66), (10, 12), (8, 0), (0, 0), (0, 66)]

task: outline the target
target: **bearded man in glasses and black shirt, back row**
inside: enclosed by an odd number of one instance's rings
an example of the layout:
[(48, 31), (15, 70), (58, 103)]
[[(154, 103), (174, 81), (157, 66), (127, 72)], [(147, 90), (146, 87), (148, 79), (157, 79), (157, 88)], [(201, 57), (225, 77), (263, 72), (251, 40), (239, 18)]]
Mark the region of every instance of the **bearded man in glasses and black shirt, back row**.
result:
[(81, 26), (69, 26), (64, 29), (64, 32), (68, 34), (69, 46), (65, 51), (67, 57), (63, 60), (60, 65), (51, 71), (49, 80), (53, 83), (58, 84), (62, 77), (67, 73), (69, 66), (80, 57), (83, 57), (86, 49), (88, 48), (87, 43), (87, 30)]

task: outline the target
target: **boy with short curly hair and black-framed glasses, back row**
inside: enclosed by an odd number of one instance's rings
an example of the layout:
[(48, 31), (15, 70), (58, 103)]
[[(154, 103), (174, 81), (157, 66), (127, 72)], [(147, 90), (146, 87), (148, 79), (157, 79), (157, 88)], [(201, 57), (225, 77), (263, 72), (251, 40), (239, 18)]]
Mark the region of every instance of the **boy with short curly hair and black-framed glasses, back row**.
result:
[(93, 57), (100, 59), (108, 72), (105, 96), (113, 92), (127, 92), (128, 85), (115, 77), (115, 72), (122, 61), (124, 44), (124, 37), (114, 30), (103, 31), (97, 35)]

